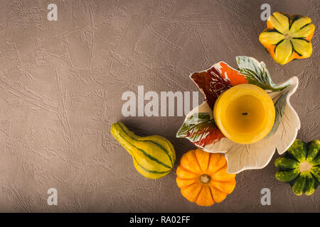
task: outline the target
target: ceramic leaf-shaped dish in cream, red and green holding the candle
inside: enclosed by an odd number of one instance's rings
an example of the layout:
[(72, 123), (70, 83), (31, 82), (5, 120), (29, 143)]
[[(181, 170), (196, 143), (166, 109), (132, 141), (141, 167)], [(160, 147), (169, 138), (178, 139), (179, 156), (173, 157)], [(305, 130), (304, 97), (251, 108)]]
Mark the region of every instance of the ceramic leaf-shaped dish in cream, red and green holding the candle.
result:
[[(178, 130), (178, 138), (188, 138), (208, 153), (225, 153), (228, 172), (262, 169), (274, 151), (281, 155), (294, 142), (300, 121), (289, 98), (298, 87), (298, 78), (274, 84), (264, 62), (253, 57), (236, 57), (238, 69), (218, 62), (208, 70), (193, 72), (190, 78), (204, 94), (205, 101), (193, 109)], [(218, 96), (238, 84), (254, 84), (264, 89), (274, 103), (275, 118), (270, 133), (256, 143), (234, 143), (221, 133), (213, 118), (213, 106)]]

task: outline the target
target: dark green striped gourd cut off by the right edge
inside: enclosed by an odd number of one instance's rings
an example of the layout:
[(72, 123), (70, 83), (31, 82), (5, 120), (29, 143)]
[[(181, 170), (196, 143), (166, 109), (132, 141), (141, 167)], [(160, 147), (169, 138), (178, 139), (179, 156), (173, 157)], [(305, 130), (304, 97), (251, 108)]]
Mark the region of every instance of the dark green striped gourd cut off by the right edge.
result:
[(304, 143), (295, 140), (284, 157), (274, 161), (279, 167), (275, 177), (288, 182), (294, 194), (307, 196), (314, 193), (320, 182), (320, 141)]

